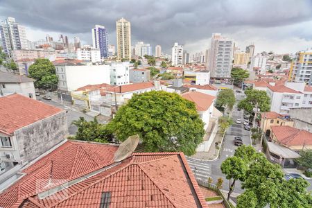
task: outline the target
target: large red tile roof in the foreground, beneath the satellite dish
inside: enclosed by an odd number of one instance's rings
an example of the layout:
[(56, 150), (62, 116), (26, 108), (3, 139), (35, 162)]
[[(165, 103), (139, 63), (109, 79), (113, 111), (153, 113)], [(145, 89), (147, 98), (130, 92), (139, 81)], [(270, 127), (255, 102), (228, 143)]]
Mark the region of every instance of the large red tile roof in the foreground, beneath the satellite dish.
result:
[[(109, 207), (207, 207), (183, 153), (133, 153), (109, 168), (114, 151), (116, 146), (68, 141), (26, 169), (28, 174), (0, 195), (0, 205), (100, 207), (103, 193), (110, 193)], [(75, 179), (73, 174), (79, 178), (99, 169), (49, 196), (38, 194), (55, 187), (49, 187), (50, 175), (64, 183)]]

